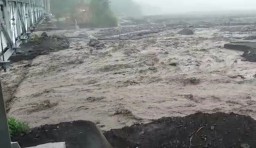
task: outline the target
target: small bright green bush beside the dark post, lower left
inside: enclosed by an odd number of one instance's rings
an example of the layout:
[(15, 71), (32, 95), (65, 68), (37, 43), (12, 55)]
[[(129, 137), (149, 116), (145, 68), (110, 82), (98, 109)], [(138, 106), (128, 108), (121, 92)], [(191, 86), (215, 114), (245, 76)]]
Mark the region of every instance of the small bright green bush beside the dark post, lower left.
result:
[(9, 118), (8, 125), (11, 137), (25, 134), (29, 131), (29, 126), (27, 123), (18, 121), (15, 118)]

